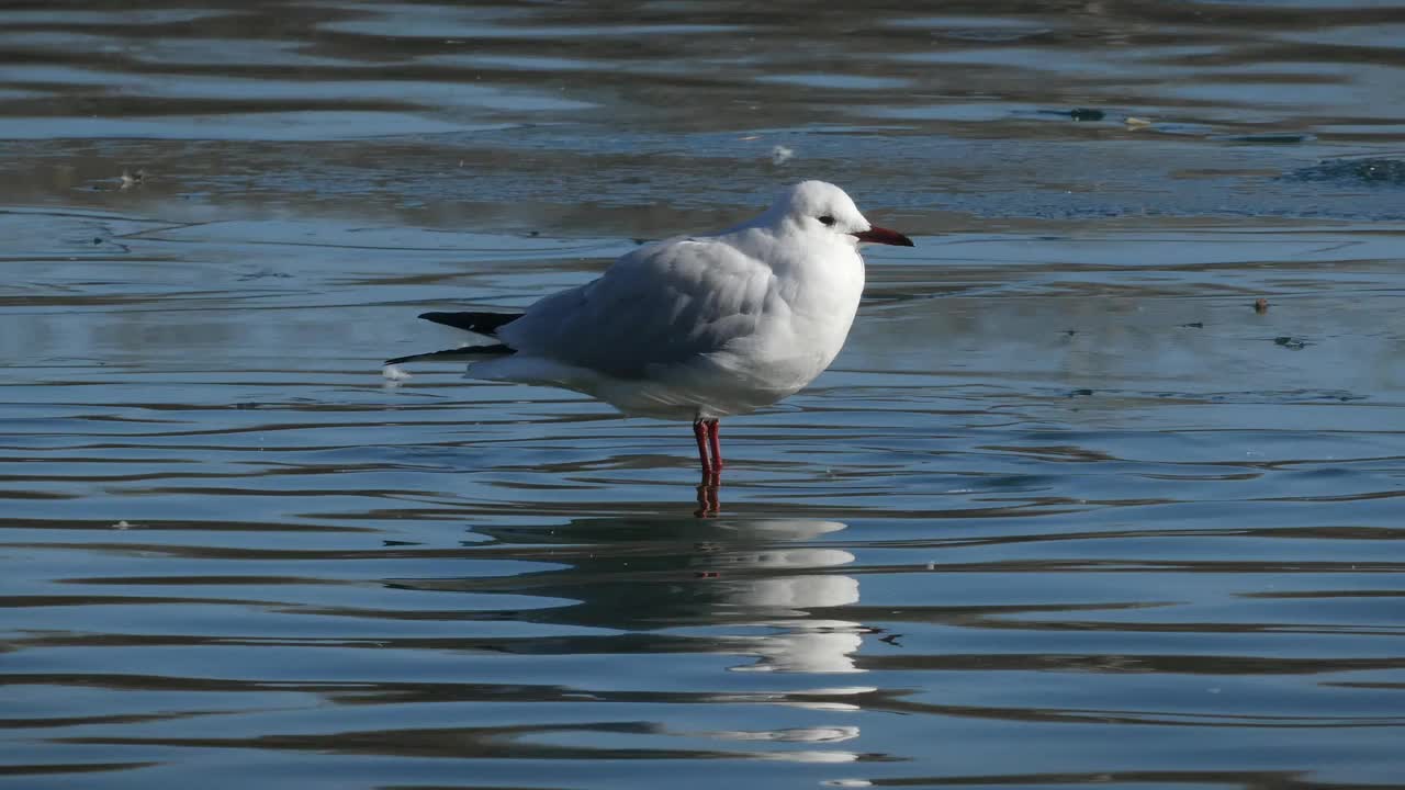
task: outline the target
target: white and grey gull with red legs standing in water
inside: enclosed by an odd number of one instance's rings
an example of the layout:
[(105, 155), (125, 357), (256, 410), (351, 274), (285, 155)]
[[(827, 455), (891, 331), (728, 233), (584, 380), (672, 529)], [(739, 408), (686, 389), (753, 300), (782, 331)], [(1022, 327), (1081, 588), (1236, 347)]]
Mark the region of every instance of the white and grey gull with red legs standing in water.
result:
[(912, 239), (864, 219), (839, 187), (801, 181), (749, 222), (642, 246), (524, 312), (426, 312), (495, 342), (385, 364), (469, 358), (471, 378), (691, 420), (704, 484), (717, 484), (718, 422), (798, 392), (843, 349), (864, 290), (861, 243)]

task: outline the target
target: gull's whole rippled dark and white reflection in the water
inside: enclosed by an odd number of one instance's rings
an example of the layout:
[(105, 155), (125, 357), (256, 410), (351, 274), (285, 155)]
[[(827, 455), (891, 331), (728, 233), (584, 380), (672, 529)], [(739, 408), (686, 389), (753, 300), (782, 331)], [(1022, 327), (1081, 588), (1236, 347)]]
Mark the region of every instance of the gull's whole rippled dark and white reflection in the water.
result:
[[(566, 669), (559, 678), (537, 678), (548, 687), (582, 699), (624, 693), (655, 704), (683, 694), (726, 711), (702, 717), (714, 725), (704, 728), (646, 714), (642, 732), (683, 739), (670, 748), (695, 749), (701, 741), (707, 746), (698, 753), (708, 756), (849, 763), (860, 753), (839, 744), (857, 739), (860, 728), (836, 717), (860, 711), (877, 689), (830, 678), (863, 671), (856, 654), (871, 633), (842, 614), (858, 602), (858, 581), (839, 572), (856, 558), (830, 545), (843, 529), (813, 519), (690, 516), (479, 527), (473, 530), (479, 537), (492, 538), (472, 544), (485, 557), (530, 562), (532, 571), (402, 579), (395, 586), (509, 593), (500, 600), (513, 609), (485, 611), (485, 599), (471, 596), (479, 607), (465, 614), (524, 626), (530, 635), (472, 638), (472, 649), (562, 656), (568, 663), (551, 665), (563, 668), (573, 661), (599, 666), (592, 656), (610, 658), (606, 679)], [(521, 596), (535, 597), (541, 607)], [(715, 671), (712, 656), (725, 656), (726, 672)], [(766, 687), (754, 675), (739, 676), (757, 672), (805, 673), (815, 680), (777, 678)], [(783, 707), (787, 714), (757, 717), (754, 706)], [(813, 720), (798, 711), (815, 711)]]

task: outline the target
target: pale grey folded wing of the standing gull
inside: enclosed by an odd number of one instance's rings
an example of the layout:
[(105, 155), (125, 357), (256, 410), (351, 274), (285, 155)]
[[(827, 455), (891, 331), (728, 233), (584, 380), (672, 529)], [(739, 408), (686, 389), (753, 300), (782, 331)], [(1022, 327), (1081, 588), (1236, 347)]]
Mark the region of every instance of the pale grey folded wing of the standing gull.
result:
[(764, 263), (721, 240), (674, 239), (537, 302), (499, 337), (518, 351), (634, 378), (752, 335), (776, 298)]

